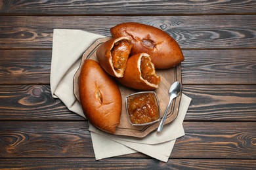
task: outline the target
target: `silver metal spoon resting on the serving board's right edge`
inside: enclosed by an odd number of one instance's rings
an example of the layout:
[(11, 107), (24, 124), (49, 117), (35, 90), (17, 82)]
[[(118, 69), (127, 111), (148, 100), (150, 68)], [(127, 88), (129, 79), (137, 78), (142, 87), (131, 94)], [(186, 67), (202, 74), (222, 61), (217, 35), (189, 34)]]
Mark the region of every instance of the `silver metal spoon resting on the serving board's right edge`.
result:
[(161, 133), (163, 129), (163, 124), (165, 122), (167, 113), (169, 112), (171, 101), (175, 99), (177, 96), (179, 96), (181, 92), (181, 83), (180, 82), (174, 82), (171, 84), (171, 87), (169, 88), (169, 103), (165, 109), (165, 112), (163, 113), (163, 118), (161, 119), (160, 125), (158, 126), (158, 132)]

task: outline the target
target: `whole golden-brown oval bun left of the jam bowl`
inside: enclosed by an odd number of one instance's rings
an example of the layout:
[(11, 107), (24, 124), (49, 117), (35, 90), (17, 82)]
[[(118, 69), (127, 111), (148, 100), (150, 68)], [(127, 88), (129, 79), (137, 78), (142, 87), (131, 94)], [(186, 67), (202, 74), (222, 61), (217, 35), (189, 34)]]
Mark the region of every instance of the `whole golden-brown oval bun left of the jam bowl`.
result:
[(81, 68), (79, 99), (91, 124), (103, 131), (116, 132), (121, 116), (121, 93), (115, 80), (92, 59), (86, 59)]

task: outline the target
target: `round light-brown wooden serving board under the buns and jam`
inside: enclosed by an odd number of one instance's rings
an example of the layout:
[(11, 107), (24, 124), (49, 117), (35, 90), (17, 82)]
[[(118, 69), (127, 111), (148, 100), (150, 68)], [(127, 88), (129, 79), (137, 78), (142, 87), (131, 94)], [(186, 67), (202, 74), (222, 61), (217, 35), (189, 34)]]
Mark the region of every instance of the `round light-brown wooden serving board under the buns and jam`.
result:
[[(81, 66), (83, 65), (83, 61), (85, 61), (85, 59), (94, 59), (97, 61), (96, 49), (100, 44), (102, 44), (102, 42), (108, 41), (109, 39), (111, 38), (106, 37), (103, 39), (98, 39), (83, 54), (80, 67), (74, 75), (74, 94), (78, 101), (79, 101), (78, 80), (80, 75), (80, 69), (81, 69)], [(173, 82), (176, 82), (176, 81), (181, 82), (181, 65), (179, 64), (176, 67), (173, 67), (171, 69), (158, 69), (156, 70), (156, 73), (157, 75), (161, 76), (160, 86), (158, 89), (154, 90), (154, 92), (156, 92), (158, 96), (158, 100), (160, 103), (160, 118), (161, 118), (169, 102), (168, 91), (171, 84), (173, 84)], [(148, 135), (149, 133), (157, 129), (160, 122), (156, 122), (156, 124), (152, 124), (148, 126), (132, 126), (131, 124), (129, 124), (129, 118), (127, 116), (127, 112), (125, 109), (125, 97), (131, 93), (135, 93), (139, 91), (133, 90), (131, 88), (127, 88), (119, 83), (118, 83), (118, 86), (122, 96), (122, 112), (121, 112), (120, 124), (119, 126), (117, 126), (115, 135), (125, 135), (125, 136), (141, 138), (141, 137), (145, 137), (146, 135)], [(181, 101), (181, 95), (179, 95), (177, 98), (173, 100), (169, 114), (167, 114), (165, 124), (169, 124), (170, 122), (175, 120), (175, 118), (177, 117), (177, 114), (179, 112), (180, 101)]]

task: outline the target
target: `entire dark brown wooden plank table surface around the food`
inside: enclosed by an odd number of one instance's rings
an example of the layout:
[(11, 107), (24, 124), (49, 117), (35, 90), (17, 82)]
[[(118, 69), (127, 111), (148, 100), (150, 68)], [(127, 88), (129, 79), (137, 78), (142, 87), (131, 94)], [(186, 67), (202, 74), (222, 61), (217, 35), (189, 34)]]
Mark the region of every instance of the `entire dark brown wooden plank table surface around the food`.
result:
[[(253, 169), (256, 1), (0, 1), (0, 168)], [(51, 96), (54, 28), (110, 36), (140, 22), (179, 42), (192, 103), (167, 163), (144, 154), (95, 161), (88, 122)]]

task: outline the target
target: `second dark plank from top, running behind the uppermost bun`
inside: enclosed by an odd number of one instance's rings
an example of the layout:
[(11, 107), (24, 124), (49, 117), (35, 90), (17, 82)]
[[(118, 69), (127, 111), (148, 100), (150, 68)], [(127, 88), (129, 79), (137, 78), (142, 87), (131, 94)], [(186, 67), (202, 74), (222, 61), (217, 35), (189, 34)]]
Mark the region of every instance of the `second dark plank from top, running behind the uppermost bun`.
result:
[(52, 48), (53, 29), (81, 29), (110, 36), (122, 22), (167, 31), (181, 48), (256, 48), (254, 15), (213, 16), (0, 16), (0, 48)]

